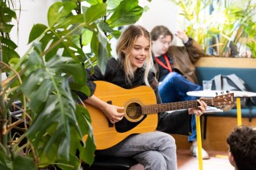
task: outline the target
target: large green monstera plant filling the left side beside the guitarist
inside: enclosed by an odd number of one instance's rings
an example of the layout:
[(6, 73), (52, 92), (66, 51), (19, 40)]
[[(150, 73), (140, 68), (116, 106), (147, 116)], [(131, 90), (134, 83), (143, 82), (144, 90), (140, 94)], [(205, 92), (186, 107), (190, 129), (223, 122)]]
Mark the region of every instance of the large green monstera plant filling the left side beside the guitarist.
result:
[(118, 27), (138, 21), (144, 8), (138, 0), (55, 2), (48, 24), (32, 27), (31, 48), (20, 57), (9, 37), (14, 2), (0, 2), (0, 66), (1, 73), (8, 73), (7, 79), (0, 76), (0, 169), (91, 165), (96, 146), (90, 117), (73, 90), (89, 95), (85, 67), (98, 64), (104, 71), (111, 56), (109, 40), (119, 37)]

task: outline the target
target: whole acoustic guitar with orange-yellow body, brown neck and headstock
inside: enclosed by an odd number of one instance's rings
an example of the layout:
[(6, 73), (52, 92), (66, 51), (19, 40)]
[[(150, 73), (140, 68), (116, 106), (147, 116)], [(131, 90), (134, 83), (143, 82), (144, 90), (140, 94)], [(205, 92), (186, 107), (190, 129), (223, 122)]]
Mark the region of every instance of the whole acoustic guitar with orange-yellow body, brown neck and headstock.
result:
[[(95, 81), (95, 94), (102, 101), (125, 107), (125, 117), (117, 123), (111, 123), (98, 108), (86, 103), (92, 119), (92, 131), (96, 149), (107, 149), (134, 133), (146, 133), (156, 130), (157, 113), (198, 107), (197, 101), (180, 101), (157, 104), (151, 87), (146, 85), (125, 89), (109, 82)], [(234, 94), (205, 98), (209, 106), (225, 107), (234, 104)], [(84, 136), (84, 139), (86, 136)]]

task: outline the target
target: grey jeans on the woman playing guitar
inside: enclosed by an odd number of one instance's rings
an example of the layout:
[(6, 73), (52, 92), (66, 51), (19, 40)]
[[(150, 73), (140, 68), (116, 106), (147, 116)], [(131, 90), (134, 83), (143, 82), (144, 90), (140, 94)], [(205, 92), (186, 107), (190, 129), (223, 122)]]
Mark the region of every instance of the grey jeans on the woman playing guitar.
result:
[(173, 136), (155, 131), (129, 136), (109, 149), (97, 150), (100, 156), (133, 157), (145, 170), (177, 170)]

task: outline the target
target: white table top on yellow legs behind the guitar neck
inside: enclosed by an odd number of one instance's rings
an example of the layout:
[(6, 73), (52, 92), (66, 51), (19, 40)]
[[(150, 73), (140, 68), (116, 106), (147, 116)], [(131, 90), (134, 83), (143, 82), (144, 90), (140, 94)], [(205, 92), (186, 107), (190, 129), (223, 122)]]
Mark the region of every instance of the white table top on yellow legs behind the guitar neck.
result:
[[(211, 90), (211, 91), (188, 91), (186, 95), (196, 96), (196, 97), (206, 97), (206, 98), (214, 98), (216, 96), (216, 92), (218, 95), (222, 95), (222, 91)], [(224, 95), (227, 94), (225, 91)], [(235, 97), (256, 97), (256, 92), (251, 91), (229, 91), (229, 93), (234, 93)]]

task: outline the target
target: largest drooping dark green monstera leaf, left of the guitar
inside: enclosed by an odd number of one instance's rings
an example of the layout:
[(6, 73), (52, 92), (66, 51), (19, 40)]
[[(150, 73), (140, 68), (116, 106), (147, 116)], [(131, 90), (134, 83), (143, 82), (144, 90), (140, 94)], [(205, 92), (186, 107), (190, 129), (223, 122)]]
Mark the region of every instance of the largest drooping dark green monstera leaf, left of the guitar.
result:
[[(92, 154), (95, 146), (89, 113), (86, 110), (76, 111), (79, 106), (73, 101), (64, 75), (72, 75), (75, 82), (86, 85), (85, 69), (71, 57), (56, 55), (44, 61), (36, 50), (24, 61), (26, 71), (21, 90), (30, 99), (28, 105), (32, 113), (25, 136), (40, 156), (39, 164), (44, 166), (57, 160), (72, 159), (73, 165), (78, 168), (76, 149)], [(83, 141), (85, 135), (89, 137)], [(93, 154), (89, 157), (93, 158)], [(91, 164), (92, 160), (84, 161)]]

